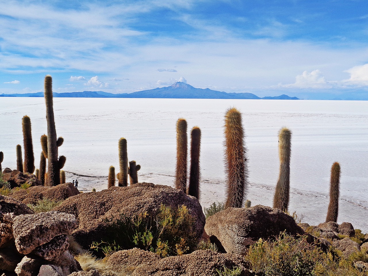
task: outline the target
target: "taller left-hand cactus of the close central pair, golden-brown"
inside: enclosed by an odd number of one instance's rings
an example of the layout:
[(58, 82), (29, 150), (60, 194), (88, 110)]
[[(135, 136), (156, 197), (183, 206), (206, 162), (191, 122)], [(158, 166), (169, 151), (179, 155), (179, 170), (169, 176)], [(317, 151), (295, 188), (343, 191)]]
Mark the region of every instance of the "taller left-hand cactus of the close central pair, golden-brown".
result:
[(175, 188), (187, 192), (187, 121), (179, 118), (176, 123), (176, 174)]

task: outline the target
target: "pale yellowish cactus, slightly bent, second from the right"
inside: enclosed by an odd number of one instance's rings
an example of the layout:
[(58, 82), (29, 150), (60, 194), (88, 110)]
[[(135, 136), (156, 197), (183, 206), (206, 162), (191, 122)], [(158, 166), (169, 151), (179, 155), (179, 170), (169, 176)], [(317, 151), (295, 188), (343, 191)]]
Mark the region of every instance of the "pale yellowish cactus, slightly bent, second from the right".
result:
[(279, 158), (280, 173), (277, 180), (273, 208), (286, 211), (289, 206), (290, 194), (290, 155), (291, 155), (291, 131), (282, 128), (279, 131)]

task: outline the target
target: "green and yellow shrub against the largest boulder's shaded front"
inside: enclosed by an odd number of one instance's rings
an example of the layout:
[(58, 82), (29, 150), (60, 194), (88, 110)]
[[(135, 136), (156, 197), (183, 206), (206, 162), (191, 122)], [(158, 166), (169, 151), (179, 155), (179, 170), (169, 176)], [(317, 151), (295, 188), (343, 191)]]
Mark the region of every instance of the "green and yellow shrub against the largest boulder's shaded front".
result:
[(139, 214), (133, 218), (120, 213), (105, 219), (106, 238), (93, 243), (97, 256), (134, 247), (155, 252), (162, 257), (194, 251), (197, 237), (192, 231), (194, 217), (185, 205), (178, 208), (160, 206), (157, 215)]

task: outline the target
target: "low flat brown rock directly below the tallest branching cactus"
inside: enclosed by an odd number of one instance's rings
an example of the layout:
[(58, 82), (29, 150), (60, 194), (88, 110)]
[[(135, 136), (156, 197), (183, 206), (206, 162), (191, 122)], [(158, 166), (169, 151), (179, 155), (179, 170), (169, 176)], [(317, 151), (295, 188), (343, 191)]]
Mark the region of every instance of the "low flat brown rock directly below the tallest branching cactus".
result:
[(13, 192), (10, 197), (21, 201), (24, 204), (35, 205), (41, 199), (50, 199), (52, 201), (63, 201), (80, 192), (74, 187), (72, 183), (60, 184), (53, 187), (34, 186), (27, 190), (18, 190)]

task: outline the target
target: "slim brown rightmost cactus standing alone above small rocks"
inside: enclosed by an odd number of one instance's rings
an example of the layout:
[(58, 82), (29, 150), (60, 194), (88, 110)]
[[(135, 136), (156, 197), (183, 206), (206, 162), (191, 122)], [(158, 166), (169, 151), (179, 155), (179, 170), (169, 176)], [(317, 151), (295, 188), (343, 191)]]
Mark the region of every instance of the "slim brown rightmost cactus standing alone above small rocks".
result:
[(337, 222), (339, 214), (339, 194), (340, 194), (340, 164), (335, 162), (331, 167), (330, 177), (330, 204), (326, 216), (326, 222)]

